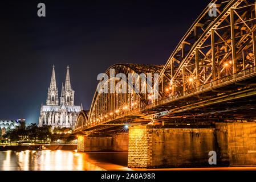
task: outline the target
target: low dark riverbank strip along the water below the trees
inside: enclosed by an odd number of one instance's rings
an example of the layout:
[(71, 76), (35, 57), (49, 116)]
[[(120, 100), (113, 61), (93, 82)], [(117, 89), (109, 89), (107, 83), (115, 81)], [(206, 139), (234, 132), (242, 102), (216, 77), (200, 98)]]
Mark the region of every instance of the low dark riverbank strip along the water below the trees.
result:
[(24, 150), (76, 150), (77, 144), (29, 144), (29, 145), (13, 145), (0, 146), (0, 151), (24, 151)]

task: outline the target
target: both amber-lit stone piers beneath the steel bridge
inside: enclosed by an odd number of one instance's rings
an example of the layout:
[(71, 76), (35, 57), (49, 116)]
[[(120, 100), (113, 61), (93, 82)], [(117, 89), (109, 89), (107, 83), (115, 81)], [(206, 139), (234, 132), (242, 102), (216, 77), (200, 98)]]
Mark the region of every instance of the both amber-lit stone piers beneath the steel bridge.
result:
[[(128, 151), (129, 168), (256, 166), (256, 123), (136, 125), (129, 133), (80, 136), (78, 151)], [(209, 164), (210, 151), (217, 164)]]

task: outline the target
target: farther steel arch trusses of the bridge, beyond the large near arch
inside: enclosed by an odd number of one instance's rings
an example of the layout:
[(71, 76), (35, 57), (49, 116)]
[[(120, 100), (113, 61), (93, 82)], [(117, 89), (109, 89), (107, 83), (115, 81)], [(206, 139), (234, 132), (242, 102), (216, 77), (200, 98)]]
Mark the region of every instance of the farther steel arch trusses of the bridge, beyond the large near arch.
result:
[[(123, 115), (133, 113), (141, 108), (145, 108), (151, 100), (148, 99), (152, 92), (148, 92), (147, 84), (148, 73), (151, 74), (151, 80), (154, 80), (154, 73), (159, 75), (163, 66), (147, 65), (147, 64), (115, 64), (105, 71), (107, 79), (101, 78), (97, 86), (97, 90), (92, 100), (91, 109), (83, 125), (79, 125), (76, 129), (83, 127), (93, 127), (101, 125), (105, 122), (112, 121), (113, 119), (120, 118)], [(115, 73), (113, 73), (114, 71)], [(126, 80), (122, 80), (117, 76), (119, 73), (125, 75)], [(141, 77), (145, 76), (145, 80)], [(137, 75), (137, 77), (136, 77)], [(114, 77), (113, 77), (114, 76)], [(132, 83), (129, 82), (129, 77), (132, 77)], [(117, 84), (121, 81), (125, 82), (127, 93), (119, 93), (116, 89)], [(139, 84), (136, 92), (136, 82)], [(113, 92), (111, 92), (111, 84)], [(153, 83), (152, 83), (153, 84)], [(107, 90), (105, 87), (107, 85)], [(129, 86), (132, 88), (132, 93), (129, 92)], [(122, 88), (122, 86), (120, 86)], [(144, 90), (144, 92), (143, 92)], [(103, 92), (104, 91), (104, 92)], [(81, 121), (82, 116), (80, 117)], [(79, 121), (79, 117), (78, 117)]]

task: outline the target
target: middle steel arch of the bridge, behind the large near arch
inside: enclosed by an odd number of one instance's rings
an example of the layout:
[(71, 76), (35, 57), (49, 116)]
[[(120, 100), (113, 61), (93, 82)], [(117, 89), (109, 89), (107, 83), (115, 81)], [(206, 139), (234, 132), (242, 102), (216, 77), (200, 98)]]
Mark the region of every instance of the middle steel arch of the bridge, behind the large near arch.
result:
[[(92, 100), (91, 109), (88, 114), (88, 118), (85, 121), (84, 127), (91, 127), (95, 125), (100, 125), (100, 123), (104, 123), (109, 119), (115, 119), (120, 117), (120, 115), (125, 113), (130, 113), (133, 110), (138, 110), (141, 107), (145, 107), (148, 104), (148, 92), (142, 93), (142, 89), (139, 93), (135, 93), (135, 89), (133, 85), (131, 85), (133, 89), (133, 93), (111, 93), (110, 92), (110, 84), (111, 81), (114, 83), (114, 88), (116, 87), (117, 82), (120, 80), (116, 80), (116, 78), (111, 78), (111, 69), (115, 71), (115, 75), (118, 73), (124, 73), (127, 77), (127, 86), (129, 85), (128, 77), (129, 74), (134, 75), (141, 73), (160, 73), (162, 66), (159, 65), (147, 65), (147, 64), (115, 64), (107, 69), (105, 74), (108, 76), (108, 80), (104, 80), (101, 78), (99, 82), (102, 82), (100, 88), (97, 88), (94, 98)], [(143, 81), (138, 77), (139, 80), (139, 88), (143, 88)], [(152, 75), (153, 79), (153, 75)], [(99, 93), (98, 90), (103, 90), (104, 85), (108, 85), (108, 93)], [(99, 86), (99, 85), (98, 85)]]

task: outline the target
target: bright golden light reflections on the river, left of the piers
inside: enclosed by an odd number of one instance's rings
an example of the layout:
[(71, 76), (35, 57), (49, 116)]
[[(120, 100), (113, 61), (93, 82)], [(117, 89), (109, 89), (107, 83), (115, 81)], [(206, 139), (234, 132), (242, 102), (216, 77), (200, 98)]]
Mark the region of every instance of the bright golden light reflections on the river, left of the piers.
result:
[(0, 151), (0, 170), (102, 170), (75, 151)]

